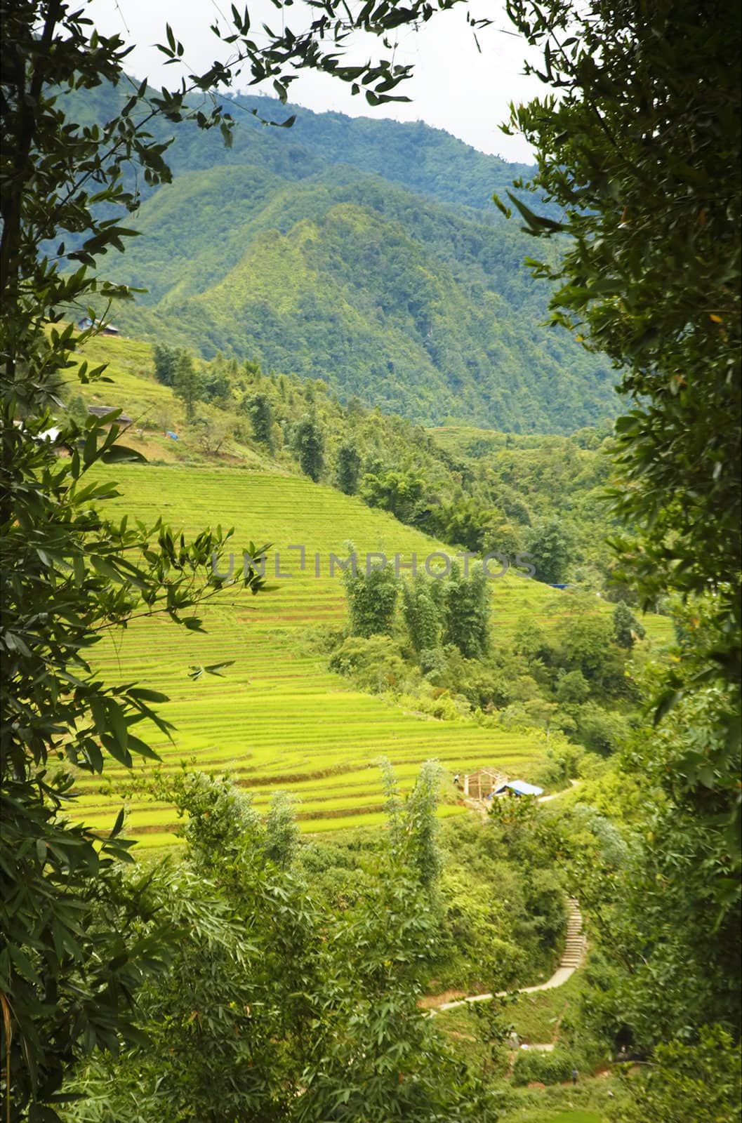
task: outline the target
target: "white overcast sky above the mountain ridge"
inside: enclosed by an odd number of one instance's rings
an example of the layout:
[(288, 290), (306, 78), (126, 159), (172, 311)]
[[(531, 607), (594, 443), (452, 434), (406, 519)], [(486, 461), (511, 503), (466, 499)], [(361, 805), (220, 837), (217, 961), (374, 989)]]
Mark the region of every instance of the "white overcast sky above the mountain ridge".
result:
[[(236, 0), (238, 10), (244, 4), (245, 0)], [(229, 16), (230, 6), (231, 0), (91, 0), (88, 15), (102, 34), (118, 33), (127, 43), (136, 45), (127, 61), (127, 69), (136, 77), (146, 76), (162, 85), (178, 77), (177, 67), (164, 65), (165, 56), (154, 46), (166, 42), (165, 24), (172, 26), (183, 43), (187, 70), (202, 72), (214, 58), (228, 57), (229, 48), (209, 28), (214, 21), (228, 26), (221, 12)], [(281, 19), (269, 0), (248, 0), (248, 7), (255, 33), (264, 21), (274, 26)], [(471, 15), (488, 16), (493, 20), (492, 27), (477, 33), (482, 53), (466, 24), (467, 7)], [(290, 26), (304, 26), (299, 3), (288, 12), (292, 13)], [(498, 128), (509, 116), (511, 101), (528, 101), (544, 93), (544, 86), (537, 79), (523, 75), (523, 60), (529, 48), (519, 36), (507, 34), (510, 28), (502, 0), (470, 0), (458, 11), (433, 16), (420, 31), (401, 28), (395, 60), (414, 63), (415, 75), (402, 83), (396, 92), (411, 97), (411, 103), (390, 102), (373, 109), (363, 93), (354, 98), (343, 82), (310, 71), (304, 71), (291, 84), (288, 97), (318, 112), (332, 109), (352, 117), (423, 120), (452, 133), (480, 152), (530, 162), (531, 149), (525, 141), (521, 137), (507, 137)], [(259, 42), (258, 34), (254, 37)], [(381, 40), (368, 37), (365, 47), (359, 43), (355, 61), (365, 62), (374, 47), (386, 54)], [(539, 60), (533, 57), (533, 61)], [(247, 90), (248, 77), (246, 75), (245, 82), (237, 80), (237, 89)], [(255, 86), (251, 92), (256, 92)]]

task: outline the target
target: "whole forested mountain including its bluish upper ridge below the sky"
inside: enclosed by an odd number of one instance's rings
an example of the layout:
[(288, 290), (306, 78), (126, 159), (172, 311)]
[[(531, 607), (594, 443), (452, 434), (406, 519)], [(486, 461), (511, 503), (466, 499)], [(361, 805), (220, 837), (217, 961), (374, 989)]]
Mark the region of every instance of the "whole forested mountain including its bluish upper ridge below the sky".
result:
[[(106, 116), (106, 97), (84, 111)], [(292, 129), (242, 113), (231, 149), (176, 133), (175, 182), (144, 201), (145, 237), (112, 271), (149, 290), (117, 310), (123, 330), (422, 423), (570, 432), (615, 412), (607, 364), (542, 326), (530, 241), (489, 201), (522, 168), (421, 124), (296, 112)]]

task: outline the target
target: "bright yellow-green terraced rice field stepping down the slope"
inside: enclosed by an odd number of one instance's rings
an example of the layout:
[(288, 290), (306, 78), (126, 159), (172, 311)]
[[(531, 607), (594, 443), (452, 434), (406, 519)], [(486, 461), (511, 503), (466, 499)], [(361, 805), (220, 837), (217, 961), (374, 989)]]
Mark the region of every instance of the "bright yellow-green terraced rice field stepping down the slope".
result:
[[(383, 818), (375, 763), (379, 756), (393, 761), (403, 788), (428, 757), (437, 757), (449, 772), (484, 764), (524, 779), (538, 772), (543, 751), (539, 733), (513, 734), (405, 712), (349, 690), (308, 642), (308, 629), (345, 621), (342, 583), (339, 572), (329, 576), (329, 558), (331, 553), (345, 558), (348, 539), (359, 555), (399, 553), (409, 562), (416, 553), (419, 564), (433, 550), (443, 550), (440, 544), (304, 478), (170, 465), (110, 471), (121, 491), (108, 505), (111, 514), (127, 511), (146, 522), (162, 514), (186, 533), (208, 524), (233, 526), (237, 564), (250, 540), (266, 541), (280, 555), (281, 573), (291, 574), (271, 579), (256, 597), (227, 591), (205, 610), (207, 634), (156, 618), (132, 622), (97, 648), (95, 663), (107, 681), (137, 679), (170, 696), (159, 710), (176, 725), (174, 745), (156, 731), (152, 738), (166, 770), (185, 760), (230, 772), (253, 791), (258, 807), (272, 792), (287, 789), (300, 801), (305, 831), (372, 824)], [(287, 550), (290, 545), (305, 546), (303, 572), (299, 551)], [(274, 569), (271, 555), (267, 576)], [(495, 638), (523, 615), (549, 624), (568, 605), (567, 594), (555, 596), (553, 590), (526, 578), (506, 576), (492, 585)], [(191, 665), (227, 659), (235, 663), (225, 677), (189, 677)], [(110, 825), (120, 798), (116, 785), (127, 775), (109, 764), (102, 779), (81, 777), (80, 813), (85, 821), (101, 829)], [(447, 803), (441, 813), (461, 810)], [(177, 820), (171, 807), (136, 797), (129, 812), (130, 832), (143, 843), (173, 841)]]

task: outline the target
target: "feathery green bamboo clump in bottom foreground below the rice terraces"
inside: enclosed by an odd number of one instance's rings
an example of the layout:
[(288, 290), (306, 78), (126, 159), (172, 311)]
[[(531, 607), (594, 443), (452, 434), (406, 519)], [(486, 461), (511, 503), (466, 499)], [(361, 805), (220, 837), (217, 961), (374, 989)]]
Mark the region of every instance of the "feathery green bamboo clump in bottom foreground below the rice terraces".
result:
[(202, 774), (163, 778), (158, 795), (187, 813), (186, 850), (150, 875), (152, 896), (180, 939), (141, 994), (148, 1042), (79, 1076), (75, 1123), (494, 1123), (495, 1097), (461, 1078), (418, 1006), (438, 930), (439, 786), (428, 763), (367, 892), (336, 913), (265, 860), (271, 830), (248, 795)]

